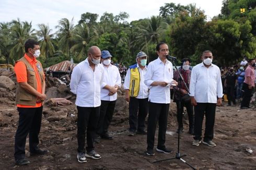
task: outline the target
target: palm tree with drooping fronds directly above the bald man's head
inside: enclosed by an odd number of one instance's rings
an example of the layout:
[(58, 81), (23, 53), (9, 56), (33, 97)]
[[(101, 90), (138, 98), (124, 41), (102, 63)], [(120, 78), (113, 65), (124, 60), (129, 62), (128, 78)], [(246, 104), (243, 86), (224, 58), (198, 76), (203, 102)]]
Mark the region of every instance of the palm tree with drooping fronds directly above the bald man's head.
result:
[(86, 23), (82, 23), (75, 28), (72, 39), (74, 41), (74, 45), (71, 47), (71, 52), (78, 52), (78, 60), (80, 60), (86, 54), (87, 45), (92, 38), (93, 35)]

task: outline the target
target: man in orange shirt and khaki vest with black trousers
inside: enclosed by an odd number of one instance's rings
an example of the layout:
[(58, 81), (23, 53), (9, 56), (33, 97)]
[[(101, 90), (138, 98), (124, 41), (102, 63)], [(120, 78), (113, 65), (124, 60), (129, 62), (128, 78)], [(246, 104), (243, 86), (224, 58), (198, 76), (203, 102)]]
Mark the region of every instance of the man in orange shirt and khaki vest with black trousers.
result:
[(27, 40), (25, 55), (14, 67), (17, 77), (16, 104), (19, 112), (19, 125), (15, 135), (15, 161), (18, 165), (29, 164), (25, 159), (26, 138), (29, 133), (30, 155), (42, 155), (49, 151), (38, 148), (38, 135), (41, 128), (42, 102), (46, 99), (45, 79), (41, 63), (39, 43)]

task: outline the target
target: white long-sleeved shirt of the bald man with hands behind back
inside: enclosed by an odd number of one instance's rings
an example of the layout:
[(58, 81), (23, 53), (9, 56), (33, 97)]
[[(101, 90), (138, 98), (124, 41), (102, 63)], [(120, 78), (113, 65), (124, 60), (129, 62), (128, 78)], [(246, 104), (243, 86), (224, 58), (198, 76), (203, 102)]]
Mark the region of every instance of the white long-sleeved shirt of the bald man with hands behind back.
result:
[(70, 89), (76, 94), (76, 105), (80, 107), (100, 106), (100, 88), (104, 69), (95, 65), (95, 71), (89, 66), (88, 58), (75, 66), (72, 72)]

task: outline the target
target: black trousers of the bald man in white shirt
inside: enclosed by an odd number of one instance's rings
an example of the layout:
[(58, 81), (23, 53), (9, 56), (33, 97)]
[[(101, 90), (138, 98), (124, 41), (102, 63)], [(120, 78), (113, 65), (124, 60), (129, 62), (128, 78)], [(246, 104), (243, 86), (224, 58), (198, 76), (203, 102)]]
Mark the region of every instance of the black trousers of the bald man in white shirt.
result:
[(86, 151), (94, 150), (94, 138), (96, 135), (97, 123), (100, 115), (98, 107), (79, 107), (77, 106), (77, 142), (78, 152), (85, 153), (85, 135), (87, 140)]

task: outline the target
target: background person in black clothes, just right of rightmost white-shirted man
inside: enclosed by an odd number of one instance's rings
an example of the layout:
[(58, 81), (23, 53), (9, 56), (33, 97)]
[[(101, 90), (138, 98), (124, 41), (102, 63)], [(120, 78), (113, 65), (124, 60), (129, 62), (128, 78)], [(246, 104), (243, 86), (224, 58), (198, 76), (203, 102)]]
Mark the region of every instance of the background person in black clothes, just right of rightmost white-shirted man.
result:
[(224, 83), (224, 87), (226, 89), (227, 98), (228, 98), (228, 106), (231, 106), (231, 102), (234, 106), (236, 106), (236, 98), (235, 98), (236, 84), (237, 84), (237, 75), (235, 74), (234, 68), (230, 67)]

